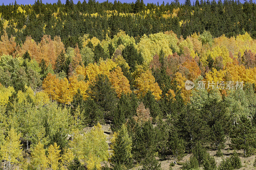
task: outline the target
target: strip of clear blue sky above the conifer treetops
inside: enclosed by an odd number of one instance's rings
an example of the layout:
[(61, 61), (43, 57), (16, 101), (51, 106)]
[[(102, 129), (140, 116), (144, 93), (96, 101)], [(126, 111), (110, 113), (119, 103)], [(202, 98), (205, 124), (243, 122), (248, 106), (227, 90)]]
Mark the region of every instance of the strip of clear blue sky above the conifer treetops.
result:
[[(46, 2), (48, 3), (48, 4), (50, 4), (50, 3), (56, 3), (58, 0), (42, 0), (42, 2), (45, 4)], [(84, 0), (80, 0), (80, 2), (82, 3)], [(106, 0), (96, 0), (96, 2), (97, 1), (99, 1), (99, 2), (104, 2), (104, 1), (106, 1)], [(114, 0), (108, 0), (109, 2), (112, 2), (112, 3), (114, 3)], [(118, 0), (117, 0), (118, 1)], [(128, 3), (130, 3), (130, 2), (134, 2), (135, 3), (135, 1), (136, 0), (119, 0), (120, 2), (122, 2), (122, 3), (124, 3), (124, 2), (128, 2)], [(143, 0), (144, 1), (144, 3), (145, 4), (147, 4), (147, 3), (155, 3), (155, 4), (157, 4), (157, 1), (158, 0)], [(173, 0), (174, 1), (174, 0)], [(191, 1), (191, 4), (193, 4), (193, 0), (190, 0)], [(211, 0), (210, 0), (211, 1)], [(217, 0), (216, 0), (217, 1)], [(248, 0), (249, 1), (249, 0)], [(12, 4), (12, 2), (13, 2), (13, 4), (14, 4), (14, 2), (15, 2), (15, 0), (0, 0), (0, 5), (2, 5), (3, 3), (5, 4), (5, 5), (7, 5), (7, 4)], [(35, 0), (16, 0), (16, 2), (17, 2), (17, 4), (34, 4), (35, 3)], [(61, 2), (64, 4), (64, 3), (66, 3), (66, 0), (61, 0)], [(73, 0), (73, 2), (76, 4), (77, 2), (78, 2), (78, 0)], [(88, 0), (86, 0), (86, 2), (88, 2)], [(167, 2), (169, 2), (169, 3), (171, 3), (172, 2), (172, 0), (169, 0), (169, 1), (164, 1), (164, 3), (166, 4)], [(185, 0), (180, 0), (180, 3), (184, 3), (185, 2)], [(194, 0), (194, 2), (196, 2), (196, 0)], [(244, 3), (244, 0), (240, 0), (240, 2), (241, 3)], [(159, 0), (159, 4), (162, 4), (163, 3), (163, 0)]]

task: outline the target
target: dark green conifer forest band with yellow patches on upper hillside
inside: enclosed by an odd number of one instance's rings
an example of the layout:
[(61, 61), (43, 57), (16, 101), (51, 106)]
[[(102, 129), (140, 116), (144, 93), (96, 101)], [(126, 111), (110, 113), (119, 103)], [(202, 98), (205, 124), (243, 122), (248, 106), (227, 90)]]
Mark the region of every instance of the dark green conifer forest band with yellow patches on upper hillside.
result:
[[(42, 4), (39, 0), (33, 5), (17, 3), (0, 6), (3, 29), (16, 37), (17, 43), (24, 42), (31, 35), (36, 42), (44, 34), (52, 37), (60, 36), (65, 47), (78, 47), (79, 37), (105, 39), (124, 30), (138, 42), (146, 34), (173, 31), (178, 37), (187, 37), (193, 33), (209, 31), (213, 37), (225, 34), (227, 37), (248, 32), (255, 38), (255, 4), (245, 1), (221, 0), (216, 2), (197, 0), (195, 4), (179, 1), (162, 4), (147, 4), (143, 0), (135, 3), (88, 2), (78, 1), (74, 4), (67, 0), (54, 4)], [(36, 29), (35, 29), (36, 28)]]

